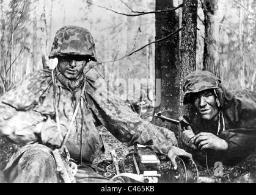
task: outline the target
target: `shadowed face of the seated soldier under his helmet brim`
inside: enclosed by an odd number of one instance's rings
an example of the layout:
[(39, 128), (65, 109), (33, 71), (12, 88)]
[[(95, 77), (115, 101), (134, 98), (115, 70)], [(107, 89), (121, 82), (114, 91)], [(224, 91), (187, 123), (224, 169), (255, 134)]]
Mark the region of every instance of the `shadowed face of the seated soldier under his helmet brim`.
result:
[(87, 63), (87, 60), (70, 57), (60, 57), (58, 60), (59, 71), (67, 79), (77, 79), (82, 74)]

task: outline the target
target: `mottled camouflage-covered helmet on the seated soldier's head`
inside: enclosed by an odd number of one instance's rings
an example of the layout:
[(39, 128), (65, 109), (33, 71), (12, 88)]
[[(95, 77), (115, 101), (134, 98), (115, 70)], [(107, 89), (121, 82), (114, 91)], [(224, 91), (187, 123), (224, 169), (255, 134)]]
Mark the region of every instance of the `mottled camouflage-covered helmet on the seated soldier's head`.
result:
[(79, 55), (97, 61), (95, 44), (89, 30), (79, 26), (64, 26), (57, 30), (49, 59), (67, 55)]

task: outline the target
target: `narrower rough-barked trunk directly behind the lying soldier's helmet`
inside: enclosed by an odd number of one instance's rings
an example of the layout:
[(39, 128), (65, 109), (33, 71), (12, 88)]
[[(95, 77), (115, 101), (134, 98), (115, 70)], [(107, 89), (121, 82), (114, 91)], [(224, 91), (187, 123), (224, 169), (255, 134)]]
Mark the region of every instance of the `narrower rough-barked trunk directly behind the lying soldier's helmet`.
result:
[(183, 80), (186, 74), (196, 70), (197, 0), (183, 0), (181, 63), (180, 63), (180, 116), (192, 109), (183, 106)]

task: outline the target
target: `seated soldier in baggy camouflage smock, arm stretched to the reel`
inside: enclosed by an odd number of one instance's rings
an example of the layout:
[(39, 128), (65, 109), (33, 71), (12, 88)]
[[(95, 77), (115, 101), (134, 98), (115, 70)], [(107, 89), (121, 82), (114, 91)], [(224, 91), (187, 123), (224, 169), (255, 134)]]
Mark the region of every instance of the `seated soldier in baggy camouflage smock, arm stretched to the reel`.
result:
[(73, 116), (75, 122), (65, 146), (78, 165), (76, 182), (108, 181), (96, 174), (92, 165), (103, 150), (100, 126), (127, 146), (139, 143), (151, 147), (161, 157), (169, 157), (174, 166), (178, 155), (191, 158), (175, 147), (173, 132), (139, 118), (110, 90), (97, 88), (84, 74), (87, 62), (96, 61), (88, 30), (78, 26), (58, 30), (49, 55), (54, 57), (58, 59), (56, 68), (29, 74), (0, 99), (1, 137), (25, 145), (4, 170), (8, 182), (59, 181), (51, 152), (63, 143)]

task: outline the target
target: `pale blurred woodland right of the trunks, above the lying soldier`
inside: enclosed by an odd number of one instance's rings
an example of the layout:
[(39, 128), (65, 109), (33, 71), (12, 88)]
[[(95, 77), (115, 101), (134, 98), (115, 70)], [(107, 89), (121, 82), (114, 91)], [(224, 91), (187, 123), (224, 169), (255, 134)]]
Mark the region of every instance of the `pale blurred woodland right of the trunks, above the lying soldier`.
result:
[(233, 89), (256, 87), (255, 5), (254, 0), (204, 0), (204, 12), (199, 10), (198, 55), (202, 42), (205, 51), (197, 66), (217, 74)]

